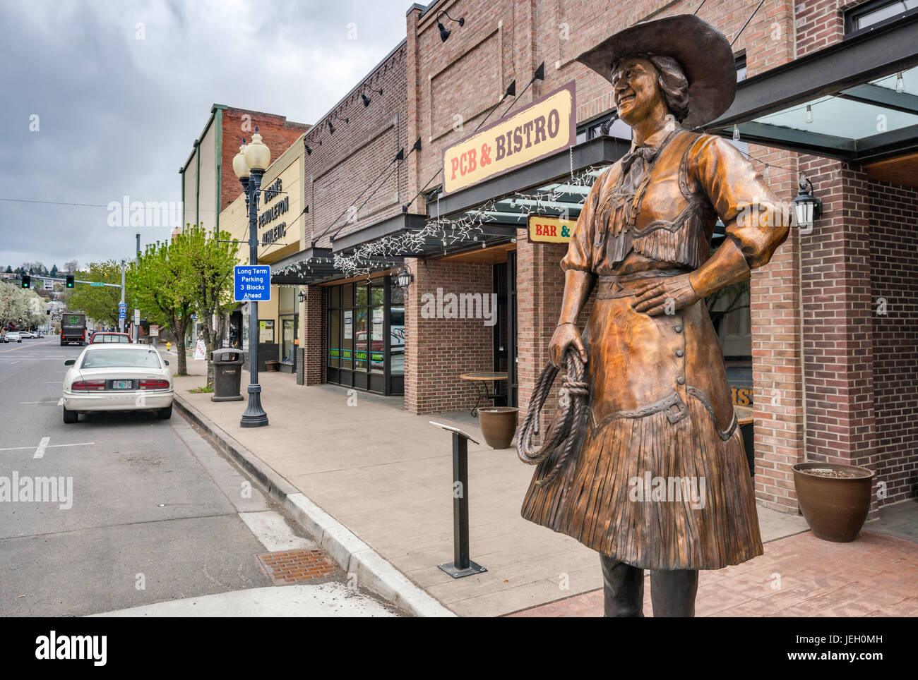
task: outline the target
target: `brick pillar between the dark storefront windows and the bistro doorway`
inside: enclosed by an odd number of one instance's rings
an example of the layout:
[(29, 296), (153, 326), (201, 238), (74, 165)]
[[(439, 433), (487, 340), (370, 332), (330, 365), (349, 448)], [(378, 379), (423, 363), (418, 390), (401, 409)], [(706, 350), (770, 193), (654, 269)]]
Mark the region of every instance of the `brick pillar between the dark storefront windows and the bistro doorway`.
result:
[[(494, 370), (494, 326), (483, 319), (424, 318), (424, 294), (487, 293), (491, 265), (442, 260), (408, 260), (414, 282), (405, 293), (405, 409), (434, 413), (470, 409), (476, 388), (462, 373)], [(490, 384), (488, 384), (490, 388)], [(490, 391), (490, 389), (489, 389)]]

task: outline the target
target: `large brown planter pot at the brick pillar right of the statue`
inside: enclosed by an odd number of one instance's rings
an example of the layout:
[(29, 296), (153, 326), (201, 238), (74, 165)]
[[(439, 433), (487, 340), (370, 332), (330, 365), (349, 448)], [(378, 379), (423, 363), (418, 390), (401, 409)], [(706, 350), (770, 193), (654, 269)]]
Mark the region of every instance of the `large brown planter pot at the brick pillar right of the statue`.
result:
[[(798, 463), (792, 469), (800, 510), (813, 535), (834, 543), (854, 541), (867, 520), (877, 473), (837, 463)], [(826, 477), (825, 471), (844, 477)]]

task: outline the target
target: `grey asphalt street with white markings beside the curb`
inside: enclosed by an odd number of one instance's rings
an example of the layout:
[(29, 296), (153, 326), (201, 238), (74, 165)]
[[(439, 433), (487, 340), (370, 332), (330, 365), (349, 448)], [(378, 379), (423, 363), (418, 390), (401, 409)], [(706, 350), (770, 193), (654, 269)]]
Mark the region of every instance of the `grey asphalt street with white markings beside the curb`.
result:
[(255, 555), (314, 544), (177, 411), (64, 424), (63, 362), (81, 351), (0, 345), (0, 483), (60, 482), (53, 502), (0, 496), (0, 616), (395, 613), (340, 570), (273, 586)]

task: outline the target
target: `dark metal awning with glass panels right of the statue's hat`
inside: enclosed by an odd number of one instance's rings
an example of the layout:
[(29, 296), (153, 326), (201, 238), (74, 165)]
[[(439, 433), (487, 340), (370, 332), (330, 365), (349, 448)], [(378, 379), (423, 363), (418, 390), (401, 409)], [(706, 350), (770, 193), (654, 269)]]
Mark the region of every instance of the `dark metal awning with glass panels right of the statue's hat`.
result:
[(733, 126), (745, 142), (860, 164), (918, 151), (918, 14), (737, 83), (705, 128)]

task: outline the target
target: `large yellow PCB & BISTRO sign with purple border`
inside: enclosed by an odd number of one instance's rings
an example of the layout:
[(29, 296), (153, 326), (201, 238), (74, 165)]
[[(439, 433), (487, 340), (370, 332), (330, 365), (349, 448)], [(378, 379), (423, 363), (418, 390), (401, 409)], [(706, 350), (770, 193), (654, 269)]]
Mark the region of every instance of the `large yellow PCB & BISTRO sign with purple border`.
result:
[(443, 149), (443, 192), (487, 180), (577, 142), (574, 82)]

